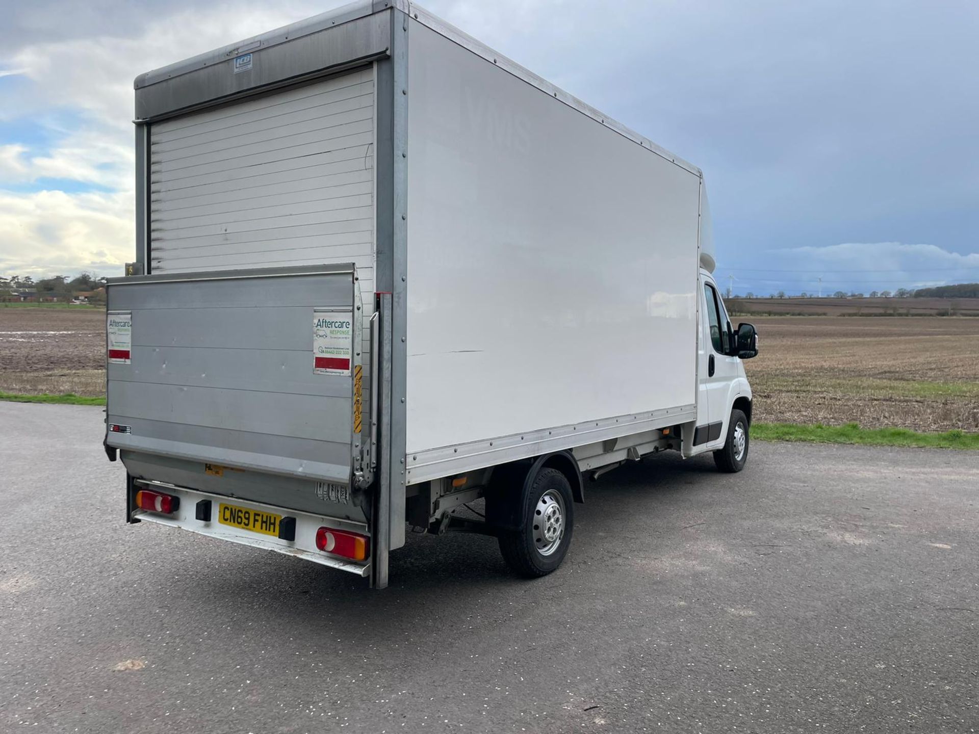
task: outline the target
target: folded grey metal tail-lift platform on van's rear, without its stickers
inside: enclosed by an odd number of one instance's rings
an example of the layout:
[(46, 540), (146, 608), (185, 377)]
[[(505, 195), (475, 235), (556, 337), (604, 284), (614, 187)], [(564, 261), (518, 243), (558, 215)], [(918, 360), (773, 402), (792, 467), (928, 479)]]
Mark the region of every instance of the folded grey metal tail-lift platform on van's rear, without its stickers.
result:
[[(132, 323), (131, 361), (107, 373), (107, 415), (130, 431), (109, 436), (110, 445), (350, 481), (352, 378), (314, 372), (312, 314), (350, 312), (353, 273), (265, 275), (109, 286), (110, 308)], [(154, 479), (175, 479), (161, 471)]]

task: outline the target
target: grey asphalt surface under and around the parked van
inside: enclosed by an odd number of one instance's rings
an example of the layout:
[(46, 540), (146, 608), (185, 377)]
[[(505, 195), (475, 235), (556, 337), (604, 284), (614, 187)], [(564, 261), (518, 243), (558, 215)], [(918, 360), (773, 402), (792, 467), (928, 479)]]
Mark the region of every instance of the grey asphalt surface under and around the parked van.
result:
[(979, 453), (756, 443), (587, 486), (564, 566), (392, 585), (143, 523), (100, 408), (0, 403), (2, 732), (971, 732)]

